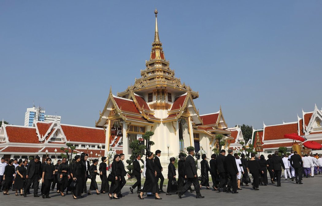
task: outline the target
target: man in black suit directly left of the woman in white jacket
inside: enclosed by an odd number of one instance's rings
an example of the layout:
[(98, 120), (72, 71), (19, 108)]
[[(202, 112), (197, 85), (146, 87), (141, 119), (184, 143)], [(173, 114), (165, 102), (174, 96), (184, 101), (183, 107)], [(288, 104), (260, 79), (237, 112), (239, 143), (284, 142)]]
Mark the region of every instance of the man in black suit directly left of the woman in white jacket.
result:
[(228, 187), (229, 191), (232, 187), (232, 194), (238, 193), (237, 192), (237, 175), (239, 174), (236, 164), (236, 158), (232, 156), (232, 149), (228, 149), (228, 155), (225, 158), (224, 164), (226, 168), (226, 173), (229, 179)]

